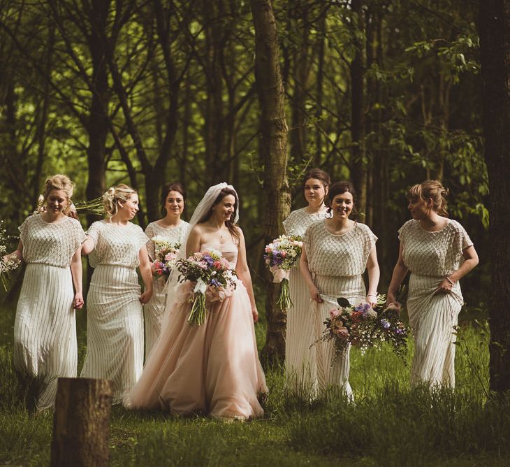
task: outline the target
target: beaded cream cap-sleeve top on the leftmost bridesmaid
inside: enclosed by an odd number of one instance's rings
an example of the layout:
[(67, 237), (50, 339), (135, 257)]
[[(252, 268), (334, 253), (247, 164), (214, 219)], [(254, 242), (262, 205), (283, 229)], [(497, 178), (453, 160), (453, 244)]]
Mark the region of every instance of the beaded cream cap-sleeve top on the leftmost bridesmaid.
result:
[(78, 220), (63, 217), (59, 222), (45, 222), (34, 214), (20, 225), (23, 259), (26, 263), (42, 263), (67, 268), (76, 250), (85, 240)]

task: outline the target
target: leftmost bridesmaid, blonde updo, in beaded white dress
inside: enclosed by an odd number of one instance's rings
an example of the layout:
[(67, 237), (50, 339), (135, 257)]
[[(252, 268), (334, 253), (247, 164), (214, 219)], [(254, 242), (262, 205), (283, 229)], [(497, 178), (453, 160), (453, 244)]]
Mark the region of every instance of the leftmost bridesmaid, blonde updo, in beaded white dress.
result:
[(85, 232), (67, 215), (72, 194), (66, 175), (48, 178), (43, 212), (20, 226), (13, 253), (27, 263), (14, 324), (14, 366), (22, 377), (41, 378), (37, 410), (54, 406), (57, 378), (75, 378), (78, 366), (73, 308), (83, 306), (80, 245)]

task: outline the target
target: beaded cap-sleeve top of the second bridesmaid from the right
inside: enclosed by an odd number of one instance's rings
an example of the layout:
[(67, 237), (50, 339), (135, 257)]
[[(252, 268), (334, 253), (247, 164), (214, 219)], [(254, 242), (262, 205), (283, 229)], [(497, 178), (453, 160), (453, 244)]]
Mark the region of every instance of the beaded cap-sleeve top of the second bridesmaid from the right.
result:
[(363, 274), (377, 236), (365, 224), (356, 222), (344, 234), (331, 234), (324, 221), (314, 222), (303, 238), (308, 266), (318, 275), (354, 276)]

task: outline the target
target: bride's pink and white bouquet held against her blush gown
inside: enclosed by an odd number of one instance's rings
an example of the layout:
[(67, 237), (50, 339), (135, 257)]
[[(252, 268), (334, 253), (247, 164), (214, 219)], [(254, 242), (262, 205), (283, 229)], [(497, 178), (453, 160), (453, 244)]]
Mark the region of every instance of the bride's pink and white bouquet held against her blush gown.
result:
[(175, 263), (180, 273), (180, 282), (196, 282), (191, 301), (189, 324), (200, 326), (205, 322), (205, 299), (224, 301), (235, 289), (235, 271), (220, 252), (205, 250), (192, 254), (188, 259), (179, 259)]

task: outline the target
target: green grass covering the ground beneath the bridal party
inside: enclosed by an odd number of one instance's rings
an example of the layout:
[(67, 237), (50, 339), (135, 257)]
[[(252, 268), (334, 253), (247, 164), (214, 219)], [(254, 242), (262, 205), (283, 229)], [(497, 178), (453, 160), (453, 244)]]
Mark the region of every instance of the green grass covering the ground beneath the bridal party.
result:
[[(0, 464), (45, 466), (52, 414), (30, 415), (12, 370), (13, 306), (0, 314)], [(80, 362), (85, 319), (78, 319)], [(264, 340), (264, 326), (256, 328)], [(510, 461), (510, 401), (490, 401), (486, 324), (461, 326), (457, 389), (409, 388), (409, 356), (389, 348), (351, 352), (355, 403), (331, 391), (319, 401), (284, 387), (282, 368), (266, 373), (265, 417), (225, 423), (170, 417), (115, 406), (112, 466), (479, 466)]]

